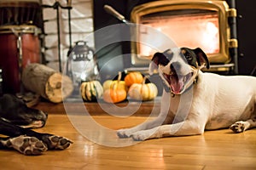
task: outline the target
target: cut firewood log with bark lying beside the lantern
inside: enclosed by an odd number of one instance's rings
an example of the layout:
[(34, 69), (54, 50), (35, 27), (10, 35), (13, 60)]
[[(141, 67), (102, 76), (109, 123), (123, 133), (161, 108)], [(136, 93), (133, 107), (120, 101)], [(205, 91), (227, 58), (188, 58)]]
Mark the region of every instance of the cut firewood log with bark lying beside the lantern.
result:
[(69, 77), (38, 63), (27, 65), (21, 80), (24, 88), (53, 103), (60, 103), (73, 92), (73, 82)]

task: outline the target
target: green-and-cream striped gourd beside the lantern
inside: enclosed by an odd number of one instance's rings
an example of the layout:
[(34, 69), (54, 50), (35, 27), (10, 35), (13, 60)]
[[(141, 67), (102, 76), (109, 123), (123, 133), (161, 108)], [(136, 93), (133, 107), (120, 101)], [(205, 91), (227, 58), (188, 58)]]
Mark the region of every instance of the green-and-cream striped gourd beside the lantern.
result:
[(97, 101), (103, 94), (102, 84), (99, 81), (82, 82), (80, 93), (84, 101)]

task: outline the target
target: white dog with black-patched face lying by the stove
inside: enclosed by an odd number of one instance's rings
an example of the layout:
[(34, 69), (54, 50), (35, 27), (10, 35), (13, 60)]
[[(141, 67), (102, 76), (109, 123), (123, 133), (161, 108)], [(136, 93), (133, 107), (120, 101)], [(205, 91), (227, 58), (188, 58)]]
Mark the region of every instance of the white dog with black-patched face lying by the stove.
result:
[(205, 66), (210, 67), (201, 48), (155, 53), (149, 74), (156, 69), (163, 81), (160, 114), (136, 127), (119, 129), (119, 138), (140, 141), (228, 127), (241, 133), (256, 127), (256, 77), (201, 71)]

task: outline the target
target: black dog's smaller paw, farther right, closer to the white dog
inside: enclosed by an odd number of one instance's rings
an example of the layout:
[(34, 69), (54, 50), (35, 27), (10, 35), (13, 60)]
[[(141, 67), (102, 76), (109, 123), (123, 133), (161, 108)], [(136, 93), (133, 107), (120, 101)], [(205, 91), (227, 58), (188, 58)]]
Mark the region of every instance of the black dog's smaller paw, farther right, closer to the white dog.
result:
[(73, 144), (70, 139), (55, 135), (46, 135), (42, 140), (49, 150), (65, 150), (70, 144)]

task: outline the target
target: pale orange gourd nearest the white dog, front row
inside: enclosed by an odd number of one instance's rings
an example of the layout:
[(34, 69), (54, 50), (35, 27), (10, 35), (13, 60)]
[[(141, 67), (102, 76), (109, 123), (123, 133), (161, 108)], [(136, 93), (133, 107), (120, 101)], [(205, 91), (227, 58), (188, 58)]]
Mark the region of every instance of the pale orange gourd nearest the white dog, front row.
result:
[(157, 94), (158, 90), (154, 83), (145, 83), (147, 77), (144, 77), (143, 83), (133, 83), (129, 88), (128, 95), (131, 99), (136, 100), (152, 100)]

